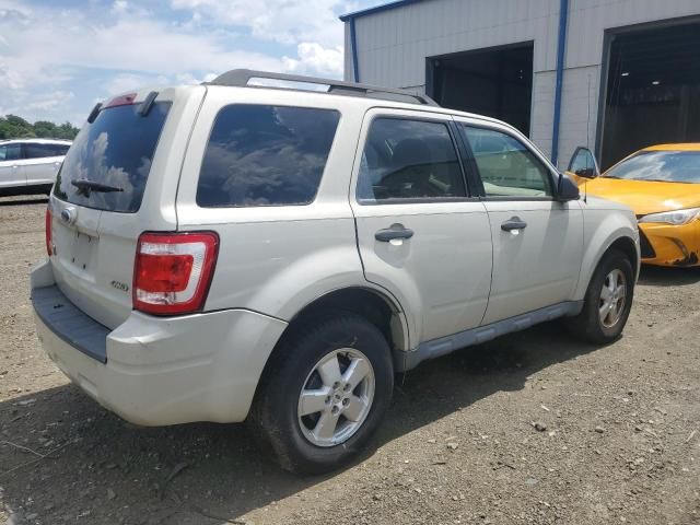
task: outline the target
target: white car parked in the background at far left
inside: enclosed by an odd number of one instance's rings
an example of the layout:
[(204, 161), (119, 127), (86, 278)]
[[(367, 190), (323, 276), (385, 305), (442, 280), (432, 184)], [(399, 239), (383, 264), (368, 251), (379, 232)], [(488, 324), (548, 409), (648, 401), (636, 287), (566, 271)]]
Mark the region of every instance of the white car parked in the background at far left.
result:
[(48, 194), (70, 148), (69, 140), (0, 140), (0, 196)]

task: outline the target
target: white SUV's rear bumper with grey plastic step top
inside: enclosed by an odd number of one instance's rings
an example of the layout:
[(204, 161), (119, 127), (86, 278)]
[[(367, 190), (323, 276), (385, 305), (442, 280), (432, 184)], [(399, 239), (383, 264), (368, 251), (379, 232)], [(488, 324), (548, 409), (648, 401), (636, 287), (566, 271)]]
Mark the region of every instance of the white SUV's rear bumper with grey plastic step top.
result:
[(97, 402), (137, 424), (243, 421), (287, 327), (255, 312), (230, 310), (170, 318), (132, 312), (109, 330), (72, 304), (57, 308), (74, 311), (56, 322), (46, 315), (47, 298), (58, 298), (50, 287), (51, 267), (45, 262), (32, 272), (32, 301), (46, 352)]

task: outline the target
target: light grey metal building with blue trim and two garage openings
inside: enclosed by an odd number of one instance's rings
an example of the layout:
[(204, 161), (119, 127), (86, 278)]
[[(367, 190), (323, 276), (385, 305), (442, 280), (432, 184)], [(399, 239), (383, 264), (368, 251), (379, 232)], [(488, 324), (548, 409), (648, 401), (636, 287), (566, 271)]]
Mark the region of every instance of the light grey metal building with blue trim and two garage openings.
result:
[(340, 18), (347, 80), (494, 116), (560, 167), (700, 141), (700, 0), (399, 0)]

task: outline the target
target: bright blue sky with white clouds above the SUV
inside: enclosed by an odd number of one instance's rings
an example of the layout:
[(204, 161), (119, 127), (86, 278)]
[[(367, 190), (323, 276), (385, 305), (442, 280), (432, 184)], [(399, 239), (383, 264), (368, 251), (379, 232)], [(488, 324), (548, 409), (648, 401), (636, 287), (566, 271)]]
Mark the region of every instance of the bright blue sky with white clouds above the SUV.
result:
[(81, 126), (142, 86), (235, 68), (342, 78), (338, 15), (382, 0), (0, 0), (0, 115)]

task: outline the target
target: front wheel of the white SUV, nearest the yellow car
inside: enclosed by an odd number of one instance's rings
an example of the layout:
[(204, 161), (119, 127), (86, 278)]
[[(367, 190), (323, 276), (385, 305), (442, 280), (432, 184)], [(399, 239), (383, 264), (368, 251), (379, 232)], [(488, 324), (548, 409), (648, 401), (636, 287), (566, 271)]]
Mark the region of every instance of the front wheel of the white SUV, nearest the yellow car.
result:
[(588, 289), (583, 310), (567, 319), (569, 331), (594, 345), (615, 341), (627, 324), (634, 295), (634, 272), (629, 258), (617, 249), (603, 256)]

